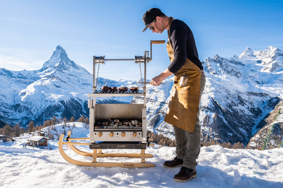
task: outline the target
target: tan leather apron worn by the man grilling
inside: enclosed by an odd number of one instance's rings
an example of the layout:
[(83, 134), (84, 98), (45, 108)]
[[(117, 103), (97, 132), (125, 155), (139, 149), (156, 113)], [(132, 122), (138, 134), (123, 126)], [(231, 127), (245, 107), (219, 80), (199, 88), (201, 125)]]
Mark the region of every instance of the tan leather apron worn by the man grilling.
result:
[[(169, 39), (172, 19), (172, 17), (169, 18), (168, 43), (166, 45), (171, 63), (174, 60), (173, 46)], [(188, 76), (188, 85), (180, 86), (180, 78), (184, 74)], [(201, 70), (187, 58), (185, 65), (174, 75), (174, 85), (164, 121), (175, 127), (193, 132), (199, 109)]]

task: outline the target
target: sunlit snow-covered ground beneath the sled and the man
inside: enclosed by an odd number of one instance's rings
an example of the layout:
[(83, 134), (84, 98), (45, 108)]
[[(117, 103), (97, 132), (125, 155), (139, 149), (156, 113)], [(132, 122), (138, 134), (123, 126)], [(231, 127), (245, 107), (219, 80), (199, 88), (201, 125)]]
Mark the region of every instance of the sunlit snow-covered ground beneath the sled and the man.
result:
[[(70, 129), (73, 123), (69, 123)], [(62, 124), (56, 125), (62, 132)], [(48, 128), (44, 128), (47, 131)], [(49, 129), (50, 131), (50, 129)], [(71, 137), (88, 137), (84, 123), (75, 123)], [(15, 142), (0, 145), (0, 187), (283, 187), (283, 148), (271, 150), (226, 149), (219, 145), (202, 147), (197, 165), (197, 178), (180, 183), (173, 180), (179, 167), (165, 168), (164, 160), (175, 157), (175, 148), (159, 145), (147, 148), (153, 158), (146, 162), (152, 168), (85, 167), (76, 166), (63, 159), (58, 150), (58, 140), (50, 140), (53, 150), (42, 150), (25, 145), (31, 135), (21, 136)], [(66, 136), (65, 136), (66, 137)], [(54, 135), (54, 138), (56, 136)], [(87, 146), (78, 149), (90, 152)], [(91, 157), (64, 150), (71, 158), (91, 162)], [(137, 153), (140, 150), (103, 150), (104, 153)], [(97, 162), (140, 162), (138, 158), (98, 158)]]

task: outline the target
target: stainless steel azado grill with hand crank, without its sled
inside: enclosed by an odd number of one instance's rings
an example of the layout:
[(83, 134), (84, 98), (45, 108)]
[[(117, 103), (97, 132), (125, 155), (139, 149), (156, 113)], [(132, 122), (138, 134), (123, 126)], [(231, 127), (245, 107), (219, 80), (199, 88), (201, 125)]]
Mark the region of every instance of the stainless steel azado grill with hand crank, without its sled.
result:
[[(164, 44), (165, 41), (151, 41), (151, 44)], [(151, 48), (151, 46), (150, 46)], [(96, 65), (98, 70), (100, 64), (106, 61), (135, 61), (139, 64), (141, 77), (141, 63), (144, 64), (144, 80), (146, 81), (146, 62), (152, 60), (148, 57), (149, 52), (145, 51), (144, 56), (135, 56), (135, 59), (105, 59), (105, 56), (93, 56), (93, 93), (88, 94), (88, 107), (90, 109), (90, 149), (107, 149), (107, 148), (146, 148), (147, 143), (147, 112), (146, 112), (146, 82), (142, 83), (142, 89), (137, 91), (97, 91), (97, 78), (95, 77)], [(151, 55), (151, 53), (150, 53)], [(97, 77), (98, 77), (97, 70)], [(144, 102), (141, 104), (96, 104), (96, 97), (128, 97), (143, 96)], [(128, 123), (128, 126), (102, 122), (119, 120), (139, 122), (136, 124)], [(109, 123), (108, 123), (109, 124)], [(123, 146), (123, 147), (122, 147)]]

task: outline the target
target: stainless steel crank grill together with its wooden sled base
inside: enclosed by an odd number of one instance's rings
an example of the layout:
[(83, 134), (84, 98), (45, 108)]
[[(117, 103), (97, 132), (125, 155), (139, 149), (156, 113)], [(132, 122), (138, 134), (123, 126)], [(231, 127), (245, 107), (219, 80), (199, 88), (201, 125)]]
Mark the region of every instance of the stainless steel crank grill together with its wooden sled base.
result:
[[(164, 44), (164, 40), (150, 41), (150, 56), (151, 44)], [(148, 57), (148, 51), (144, 52), (144, 56), (135, 56), (135, 59), (120, 59), (134, 60), (140, 65), (142, 78), (141, 63), (144, 63), (144, 80), (146, 81), (146, 62), (151, 61)], [(93, 56), (93, 73), (95, 66), (98, 64), (97, 77), (99, 73), (99, 65), (105, 64), (105, 61), (119, 61), (119, 59), (106, 60), (105, 56)], [(152, 154), (146, 154), (147, 146), (152, 146), (149, 141), (152, 138), (147, 137), (147, 111), (146, 111), (146, 84), (147, 82), (137, 82), (142, 84), (142, 89), (137, 87), (116, 87), (103, 86), (97, 91), (97, 80), (93, 74), (93, 93), (88, 94), (88, 108), (90, 117), (90, 137), (89, 138), (71, 138), (71, 130), (68, 131), (67, 142), (63, 142), (64, 134), (61, 134), (58, 141), (58, 149), (63, 158), (71, 164), (80, 166), (94, 167), (154, 167), (154, 164), (146, 163), (146, 157), (153, 157)], [(165, 84), (165, 83), (164, 83)], [(144, 102), (141, 104), (96, 104), (97, 97), (128, 97), (128, 96), (143, 96)], [(88, 140), (90, 143), (72, 142), (72, 140)], [(63, 145), (69, 147), (77, 154), (82, 156), (91, 156), (92, 162), (74, 160), (70, 158), (63, 149)], [(77, 149), (74, 145), (89, 145), (93, 151), (85, 152)], [(141, 153), (104, 153), (102, 149), (141, 149)], [(136, 157), (140, 158), (141, 162), (97, 162), (99, 157)]]

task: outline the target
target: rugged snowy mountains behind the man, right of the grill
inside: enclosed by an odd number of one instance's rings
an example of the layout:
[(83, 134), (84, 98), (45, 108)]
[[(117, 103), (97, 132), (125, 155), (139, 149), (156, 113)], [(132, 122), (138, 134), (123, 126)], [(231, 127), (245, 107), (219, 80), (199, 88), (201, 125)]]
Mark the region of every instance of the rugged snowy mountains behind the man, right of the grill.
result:
[[(247, 144), (283, 97), (282, 52), (271, 46), (264, 51), (247, 48), (240, 56), (215, 55), (202, 63), (206, 74), (200, 113), (202, 139)], [(173, 137), (172, 127), (163, 121), (172, 78), (165, 82), (166, 88), (148, 88), (148, 126)], [(278, 134), (282, 142), (282, 129)]]

